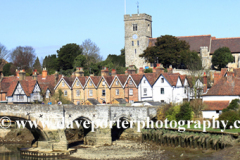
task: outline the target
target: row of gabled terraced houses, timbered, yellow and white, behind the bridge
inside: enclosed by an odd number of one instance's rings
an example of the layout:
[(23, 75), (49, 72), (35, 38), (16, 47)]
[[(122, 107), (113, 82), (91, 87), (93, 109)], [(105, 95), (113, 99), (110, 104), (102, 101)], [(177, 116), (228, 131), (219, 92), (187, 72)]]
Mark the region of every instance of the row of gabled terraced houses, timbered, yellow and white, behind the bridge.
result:
[[(206, 86), (206, 85), (205, 85)], [(42, 75), (34, 71), (26, 76), (25, 71), (16, 71), (16, 76), (1, 77), (0, 100), (2, 103), (41, 102), (43, 96), (49, 98), (61, 89), (63, 95), (74, 104), (116, 104), (136, 101), (157, 101), (179, 103), (193, 97), (190, 77), (178, 73), (164, 73), (160, 64), (153, 73), (144, 73), (143, 68), (136, 73), (132, 66), (125, 74), (109, 73), (108, 68), (101, 70), (101, 76), (84, 76), (78, 67), (71, 77), (48, 75), (43, 69)], [(200, 80), (196, 87), (204, 88)], [(206, 87), (203, 90), (206, 92)]]

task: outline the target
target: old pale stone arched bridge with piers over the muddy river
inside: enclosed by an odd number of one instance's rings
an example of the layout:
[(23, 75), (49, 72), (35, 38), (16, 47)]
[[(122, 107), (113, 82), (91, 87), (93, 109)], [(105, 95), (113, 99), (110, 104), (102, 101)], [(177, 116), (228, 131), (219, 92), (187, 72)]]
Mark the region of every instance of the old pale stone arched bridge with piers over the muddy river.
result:
[[(16, 104), (16, 105), (0, 105), (0, 118), (9, 117), (11, 120), (26, 120), (36, 122), (37, 128), (30, 127), (26, 124), (35, 140), (37, 140), (38, 149), (64, 151), (68, 149), (68, 143), (65, 130), (71, 127), (73, 122), (78, 120), (89, 121), (91, 124), (101, 121), (117, 120), (127, 121), (143, 121), (146, 122), (147, 117), (154, 118), (157, 113), (155, 107), (131, 107), (131, 106), (110, 106), (110, 105), (42, 105), (42, 104)], [(45, 126), (43, 125), (45, 122)], [(63, 125), (64, 124), (64, 125)], [(91, 124), (89, 126), (91, 126)], [(84, 143), (89, 145), (112, 144), (112, 127), (94, 126), (94, 132), (88, 132), (84, 137)], [(128, 134), (130, 136), (141, 136), (136, 131), (137, 124), (133, 124), (133, 128)]]

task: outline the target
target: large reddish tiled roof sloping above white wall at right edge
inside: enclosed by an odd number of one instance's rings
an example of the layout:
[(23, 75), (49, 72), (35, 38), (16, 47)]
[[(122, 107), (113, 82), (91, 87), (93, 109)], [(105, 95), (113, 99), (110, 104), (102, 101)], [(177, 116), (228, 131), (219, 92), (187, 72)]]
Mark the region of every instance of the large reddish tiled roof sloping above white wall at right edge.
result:
[(208, 93), (203, 96), (239, 96), (240, 95), (240, 78), (232, 77), (231, 81), (228, 77), (222, 77), (213, 84)]

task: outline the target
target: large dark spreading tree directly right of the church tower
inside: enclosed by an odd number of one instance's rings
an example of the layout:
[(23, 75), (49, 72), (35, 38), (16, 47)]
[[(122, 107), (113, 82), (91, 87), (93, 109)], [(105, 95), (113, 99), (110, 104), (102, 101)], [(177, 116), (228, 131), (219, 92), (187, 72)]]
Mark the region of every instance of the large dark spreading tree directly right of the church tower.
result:
[(144, 57), (147, 62), (154, 63), (158, 58), (159, 63), (164, 67), (172, 65), (179, 67), (184, 62), (184, 57), (189, 53), (189, 44), (179, 40), (177, 37), (165, 35), (157, 38), (155, 46), (148, 47), (140, 57)]

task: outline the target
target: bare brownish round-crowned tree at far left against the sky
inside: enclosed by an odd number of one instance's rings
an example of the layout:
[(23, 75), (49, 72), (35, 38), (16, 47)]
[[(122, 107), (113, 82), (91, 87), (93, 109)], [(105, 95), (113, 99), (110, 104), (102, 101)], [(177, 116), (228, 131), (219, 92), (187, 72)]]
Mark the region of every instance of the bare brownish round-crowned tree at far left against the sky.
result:
[(18, 69), (25, 69), (26, 71), (29, 70), (30, 73), (35, 57), (35, 50), (30, 46), (19, 46), (14, 49), (10, 55), (11, 61), (15, 67)]

